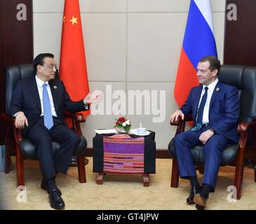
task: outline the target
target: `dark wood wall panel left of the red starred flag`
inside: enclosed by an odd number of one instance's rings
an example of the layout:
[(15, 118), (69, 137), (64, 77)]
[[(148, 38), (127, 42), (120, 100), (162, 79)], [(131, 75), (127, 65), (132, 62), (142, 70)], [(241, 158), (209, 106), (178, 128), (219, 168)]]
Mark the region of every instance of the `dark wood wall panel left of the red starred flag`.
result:
[[(27, 8), (27, 20), (19, 21), (18, 4)], [(33, 61), (32, 0), (0, 0), (0, 111), (5, 111), (4, 68)], [(5, 127), (0, 121), (0, 144), (4, 144)]]

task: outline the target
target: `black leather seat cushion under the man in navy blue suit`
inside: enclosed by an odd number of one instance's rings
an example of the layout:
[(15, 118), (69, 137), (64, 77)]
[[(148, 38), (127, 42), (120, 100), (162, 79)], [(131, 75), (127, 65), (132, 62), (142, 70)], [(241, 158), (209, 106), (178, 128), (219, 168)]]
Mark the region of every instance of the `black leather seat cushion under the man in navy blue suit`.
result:
[[(234, 162), (238, 148), (239, 146), (236, 144), (227, 146), (227, 148), (225, 148), (222, 153), (222, 161), (220, 162), (220, 166), (231, 165)], [(170, 140), (170, 143), (168, 145), (168, 152), (171, 158), (176, 158), (176, 153), (173, 146), (173, 139)], [(191, 148), (191, 152), (195, 163), (204, 163), (203, 146), (194, 146), (193, 148)]]

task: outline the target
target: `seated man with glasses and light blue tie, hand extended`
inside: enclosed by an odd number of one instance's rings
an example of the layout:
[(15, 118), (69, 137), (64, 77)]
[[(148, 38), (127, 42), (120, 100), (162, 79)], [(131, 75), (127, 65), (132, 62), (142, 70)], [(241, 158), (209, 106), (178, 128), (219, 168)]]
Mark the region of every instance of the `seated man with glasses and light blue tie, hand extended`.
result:
[[(80, 137), (65, 122), (65, 111), (76, 113), (100, 102), (102, 95), (88, 94), (79, 102), (73, 102), (61, 80), (55, 79), (57, 64), (50, 53), (34, 58), (33, 78), (23, 78), (13, 90), (10, 113), (15, 117), (15, 127), (36, 146), (43, 180), (41, 188), (49, 194), (50, 206), (63, 209), (60, 189), (55, 184), (58, 172), (66, 174), (74, 149)], [(72, 75), (72, 74), (71, 74)], [(60, 144), (53, 156), (52, 141)]]

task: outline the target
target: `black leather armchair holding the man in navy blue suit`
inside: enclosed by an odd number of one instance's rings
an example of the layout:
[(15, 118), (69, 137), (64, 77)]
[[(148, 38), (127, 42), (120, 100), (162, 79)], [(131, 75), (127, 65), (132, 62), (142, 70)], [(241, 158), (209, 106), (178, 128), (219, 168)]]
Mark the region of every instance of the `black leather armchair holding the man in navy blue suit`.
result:
[[(235, 176), (234, 186), (236, 186), (236, 199), (241, 198), (243, 183), (243, 162), (248, 159), (256, 158), (256, 67), (245, 67), (238, 65), (222, 65), (218, 75), (222, 83), (235, 85), (240, 97), (240, 120), (237, 132), (240, 134), (240, 141), (236, 145), (229, 145), (222, 153), (221, 166), (234, 165)], [(185, 116), (170, 125), (177, 126), (176, 134), (184, 132), (185, 122), (192, 121), (191, 116)], [(175, 134), (175, 135), (176, 135)], [(170, 141), (168, 151), (173, 158), (173, 168), (171, 174), (172, 188), (177, 188), (179, 183), (179, 171), (177, 159), (173, 147), (173, 139)], [(191, 148), (195, 165), (203, 167), (203, 147), (195, 146)], [(201, 171), (202, 172), (202, 171)], [(255, 170), (256, 182), (256, 170)]]

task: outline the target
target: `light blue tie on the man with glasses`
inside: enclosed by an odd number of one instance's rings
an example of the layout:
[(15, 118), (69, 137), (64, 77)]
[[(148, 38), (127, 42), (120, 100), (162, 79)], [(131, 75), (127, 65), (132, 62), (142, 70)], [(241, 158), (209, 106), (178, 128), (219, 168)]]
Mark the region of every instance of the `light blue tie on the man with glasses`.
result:
[(52, 110), (50, 108), (50, 99), (48, 96), (47, 84), (43, 84), (43, 122), (44, 126), (50, 130), (51, 127), (53, 127), (53, 116), (52, 116)]

